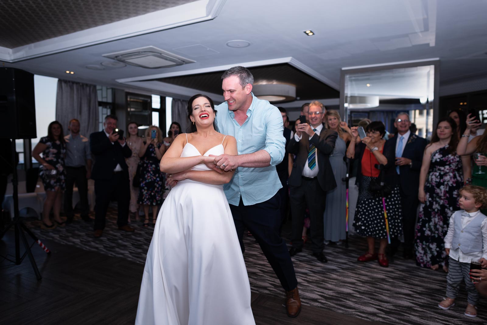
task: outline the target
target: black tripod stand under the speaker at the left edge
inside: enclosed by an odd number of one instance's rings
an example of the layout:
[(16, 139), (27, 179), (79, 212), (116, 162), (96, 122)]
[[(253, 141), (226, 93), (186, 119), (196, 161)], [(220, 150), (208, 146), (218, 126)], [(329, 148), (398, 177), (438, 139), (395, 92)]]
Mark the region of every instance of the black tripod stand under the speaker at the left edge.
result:
[[(25, 255), (29, 256), (29, 260), (31, 262), (32, 268), (34, 269), (34, 273), (36, 273), (37, 280), (42, 279), (42, 276), (40, 275), (39, 269), (37, 268), (36, 261), (34, 260), (34, 255), (32, 255), (31, 247), (32, 245), (29, 245), (27, 242), (27, 238), (24, 234), (24, 231), (32, 238), (34, 239), (39, 246), (44, 249), (44, 251), (48, 254), (51, 253), (47, 249), (44, 244), (24, 225), (22, 222), (22, 219), (19, 217), (19, 189), (18, 189), (18, 179), (17, 179), (17, 168), (16, 168), (16, 163), (15, 163), (15, 139), (12, 139), (12, 166), (13, 166), (13, 178), (12, 178), (12, 185), (14, 188), (14, 193), (13, 193), (13, 199), (14, 199), (14, 219), (10, 222), (10, 224), (2, 231), (0, 238), (3, 237), (7, 233), (7, 231), (11, 228), (14, 227), (15, 230), (15, 261), (7, 258), (7, 256), (2, 256), (8, 261), (14, 262), (16, 265), (20, 265), (22, 263), (23, 259), (25, 258)], [(25, 248), (25, 253), (20, 257), (20, 239), (22, 239), (22, 244), (24, 245)]]

